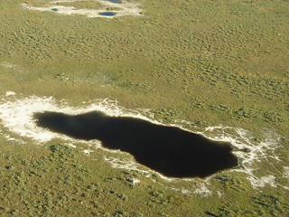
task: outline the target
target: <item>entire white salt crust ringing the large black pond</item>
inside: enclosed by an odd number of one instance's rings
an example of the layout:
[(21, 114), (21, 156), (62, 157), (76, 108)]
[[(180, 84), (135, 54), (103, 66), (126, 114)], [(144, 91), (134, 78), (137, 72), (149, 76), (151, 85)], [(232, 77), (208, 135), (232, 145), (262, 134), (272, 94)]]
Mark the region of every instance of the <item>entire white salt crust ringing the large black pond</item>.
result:
[[(85, 102), (84, 102), (85, 104)], [(57, 103), (51, 97), (36, 97), (31, 96), (29, 98), (23, 98), (21, 96), (17, 96), (13, 91), (7, 91), (5, 96), (0, 98), (0, 119), (2, 120), (2, 125), (8, 129), (8, 131), (17, 134), (21, 137), (27, 137), (33, 139), (35, 142), (43, 144), (50, 141), (53, 138), (61, 138), (67, 141), (70, 146), (73, 143), (87, 143), (89, 146), (94, 146), (96, 148), (103, 148), (101, 143), (98, 140), (91, 140), (89, 142), (80, 140), (80, 139), (73, 139), (70, 137), (66, 137), (57, 133), (53, 133), (49, 130), (43, 129), (41, 127), (37, 127), (35, 125), (35, 121), (33, 120), (33, 113), (35, 112), (43, 112), (43, 111), (56, 111), (56, 112), (63, 112), (70, 115), (76, 115), (81, 113), (86, 113), (89, 111), (102, 111), (109, 116), (120, 116), (120, 117), (134, 117), (134, 118), (142, 118), (147, 121), (153, 122), (154, 124), (161, 124), (160, 122), (154, 120), (154, 115), (150, 113), (149, 109), (125, 109), (117, 105), (117, 101), (110, 100), (110, 99), (103, 99), (103, 100), (95, 100), (89, 106), (84, 106), (82, 108), (72, 108), (70, 107), (65, 100)], [(145, 114), (142, 115), (142, 114)], [(149, 118), (147, 118), (149, 117)], [(174, 125), (176, 127), (180, 127)], [(183, 128), (183, 127), (182, 127)], [(185, 128), (183, 128), (185, 129)], [(185, 129), (187, 130), (187, 129)], [(228, 133), (228, 131), (233, 131), (233, 133)], [(266, 175), (263, 177), (257, 177), (255, 175), (255, 170), (257, 168), (254, 167), (254, 162), (260, 162), (261, 160), (266, 160), (270, 163), (268, 156), (266, 156), (267, 151), (274, 152), (275, 148), (278, 147), (280, 137), (275, 134), (274, 132), (265, 132), (266, 139), (259, 144), (252, 144), (250, 139), (247, 137), (248, 132), (241, 128), (233, 128), (233, 127), (208, 127), (205, 129), (204, 132), (199, 132), (201, 135), (208, 137), (213, 140), (218, 141), (226, 141), (230, 142), (233, 146), (237, 148), (248, 148), (250, 150), (249, 153), (244, 153), (240, 151), (234, 152), (239, 159), (239, 166), (238, 168), (233, 168), (229, 170), (230, 172), (241, 172), (246, 173), (248, 175), (247, 180), (252, 184), (254, 188), (260, 188), (266, 186), (266, 184), (275, 187), (275, 177), (273, 175)], [(15, 139), (7, 134), (3, 134), (4, 137), (7, 139)], [(218, 135), (216, 137), (212, 137), (211, 135)], [(19, 140), (19, 139), (18, 139)], [(20, 143), (20, 142), (19, 142)], [(106, 151), (122, 154), (119, 150), (108, 150), (103, 148)], [(91, 150), (84, 150), (86, 154), (90, 154)], [(279, 160), (277, 156), (270, 156), (271, 158), (275, 158), (275, 160)], [(155, 171), (150, 170), (142, 165), (137, 164), (133, 157), (130, 160), (121, 160), (117, 157), (105, 156), (105, 160), (110, 163), (115, 168), (122, 168), (127, 170), (136, 170), (147, 177), (151, 177), (152, 174), (157, 174), (161, 178), (169, 182), (177, 182), (177, 181), (188, 181), (188, 182), (195, 182), (196, 179), (194, 178), (171, 178), (161, 175)], [(272, 164), (272, 166), (274, 166)], [(275, 167), (275, 166), (274, 166)], [(288, 175), (288, 168), (285, 168), (285, 175)], [(210, 177), (200, 181), (200, 186), (194, 192), (186, 189), (174, 189), (179, 192), (187, 192), (187, 193), (200, 193), (202, 195), (208, 196), (210, 191), (208, 189), (208, 185), (210, 185), (210, 180), (215, 175), (210, 175)]]

